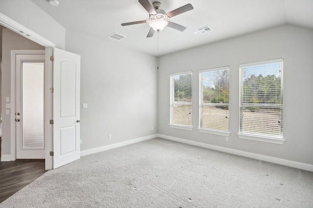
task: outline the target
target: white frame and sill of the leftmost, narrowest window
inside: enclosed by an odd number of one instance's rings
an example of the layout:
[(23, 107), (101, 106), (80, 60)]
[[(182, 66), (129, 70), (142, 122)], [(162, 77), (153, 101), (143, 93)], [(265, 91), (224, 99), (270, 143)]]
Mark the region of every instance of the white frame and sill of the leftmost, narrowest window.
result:
[[(182, 130), (188, 130), (188, 131), (192, 131), (193, 129), (193, 125), (192, 125), (192, 117), (191, 117), (191, 126), (189, 125), (183, 125), (183, 124), (175, 124), (172, 123), (172, 113), (173, 113), (173, 107), (174, 107), (174, 76), (180, 76), (180, 75), (191, 75), (191, 80), (190, 80), (190, 86), (192, 86), (192, 71), (187, 71), (187, 72), (180, 72), (180, 73), (175, 73), (175, 74), (170, 74), (170, 123), (169, 123), (169, 127), (170, 128), (175, 128), (175, 129), (182, 129)], [(191, 92), (192, 92), (192, 88), (191, 88)], [(191, 102), (190, 102), (191, 108), (193, 107), (192, 105), (192, 94), (191, 94)], [(191, 114), (192, 116), (192, 114)]]

